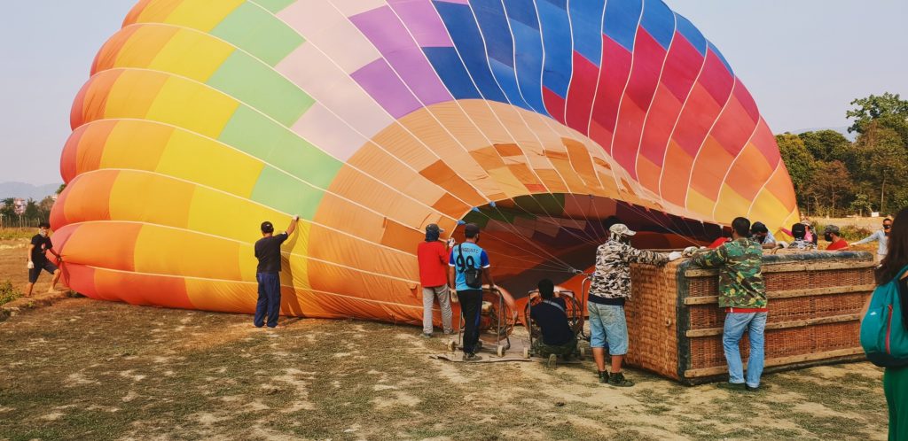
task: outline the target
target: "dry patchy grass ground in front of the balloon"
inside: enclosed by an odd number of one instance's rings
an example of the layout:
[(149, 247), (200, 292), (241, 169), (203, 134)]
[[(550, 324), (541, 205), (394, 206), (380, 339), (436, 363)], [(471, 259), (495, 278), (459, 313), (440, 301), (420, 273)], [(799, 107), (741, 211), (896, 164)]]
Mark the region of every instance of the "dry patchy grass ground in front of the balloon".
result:
[[(11, 252), (24, 251), (0, 250), (0, 280), (25, 277)], [(0, 321), (0, 439), (886, 436), (882, 372), (867, 363), (767, 375), (756, 394), (635, 370), (620, 389), (598, 385), (589, 361), (429, 359), (444, 342), (409, 326), (251, 321), (92, 299)]]

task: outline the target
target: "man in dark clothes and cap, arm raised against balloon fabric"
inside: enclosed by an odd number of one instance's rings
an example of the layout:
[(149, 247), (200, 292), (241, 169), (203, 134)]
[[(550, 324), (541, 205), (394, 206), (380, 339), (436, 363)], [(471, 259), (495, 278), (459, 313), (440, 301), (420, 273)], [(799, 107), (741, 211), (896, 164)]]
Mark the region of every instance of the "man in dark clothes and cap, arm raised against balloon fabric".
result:
[(293, 216), (287, 231), (274, 234), (274, 225), (265, 220), (262, 222), (262, 239), (255, 242), (255, 258), (259, 266), (255, 270), (255, 279), (259, 282), (259, 300), (255, 304), (255, 318), (252, 323), (256, 328), (265, 324), (268, 317), (268, 328), (278, 326), (281, 316), (281, 243), (296, 230), (299, 216)]

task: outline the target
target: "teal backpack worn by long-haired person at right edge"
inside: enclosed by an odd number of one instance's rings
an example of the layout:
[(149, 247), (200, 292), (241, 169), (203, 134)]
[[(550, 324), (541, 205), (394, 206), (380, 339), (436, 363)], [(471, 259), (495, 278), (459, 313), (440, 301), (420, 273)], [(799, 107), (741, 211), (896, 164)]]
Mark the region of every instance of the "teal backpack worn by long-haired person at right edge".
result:
[(881, 368), (908, 366), (908, 331), (902, 316), (902, 302), (899, 299), (899, 275), (873, 289), (870, 308), (861, 322), (861, 346), (867, 359)]

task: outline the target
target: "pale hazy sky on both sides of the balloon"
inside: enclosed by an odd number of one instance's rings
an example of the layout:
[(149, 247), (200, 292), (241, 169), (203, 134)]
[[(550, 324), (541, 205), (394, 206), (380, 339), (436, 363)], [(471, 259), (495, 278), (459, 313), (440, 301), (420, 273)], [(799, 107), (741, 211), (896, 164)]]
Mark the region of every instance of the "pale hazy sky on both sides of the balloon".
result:
[[(75, 94), (134, 3), (0, 0), (0, 182), (62, 181)], [(908, 1), (666, 3), (722, 51), (774, 132), (844, 127), (871, 93), (908, 97)]]

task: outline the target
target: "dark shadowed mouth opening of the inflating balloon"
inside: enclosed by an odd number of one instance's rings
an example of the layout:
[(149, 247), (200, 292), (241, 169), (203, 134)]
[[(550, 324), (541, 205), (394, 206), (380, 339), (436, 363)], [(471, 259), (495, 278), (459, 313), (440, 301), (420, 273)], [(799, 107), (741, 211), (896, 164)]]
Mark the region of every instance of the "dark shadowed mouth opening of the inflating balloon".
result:
[(638, 249), (676, 250), (706, 245), (722, 234), (715, 223), (682, 218), (626, 201), (592, 195), (545, 193), (494, 201), (469, 211), (451, 237), (464, 240), (464, 225), (479, 226), (479, 246), (489, 253), (499, 285), (524, 298), (540, 279), (573, 286), (577, 272), (593, 269), (608, 228), (623, 223), (637, 231)]

